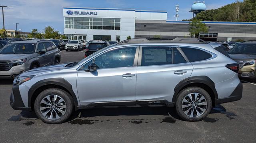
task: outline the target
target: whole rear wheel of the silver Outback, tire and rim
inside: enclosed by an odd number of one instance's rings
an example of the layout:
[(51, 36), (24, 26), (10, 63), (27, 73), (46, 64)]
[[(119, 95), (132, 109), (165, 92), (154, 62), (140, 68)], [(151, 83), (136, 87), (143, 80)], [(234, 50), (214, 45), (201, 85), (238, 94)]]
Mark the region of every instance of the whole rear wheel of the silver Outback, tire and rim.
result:
[(203, 88), (189, 87), (178, 94), (175, 106), (185, 121), (201, 121), (210, 113), (212, 100)]

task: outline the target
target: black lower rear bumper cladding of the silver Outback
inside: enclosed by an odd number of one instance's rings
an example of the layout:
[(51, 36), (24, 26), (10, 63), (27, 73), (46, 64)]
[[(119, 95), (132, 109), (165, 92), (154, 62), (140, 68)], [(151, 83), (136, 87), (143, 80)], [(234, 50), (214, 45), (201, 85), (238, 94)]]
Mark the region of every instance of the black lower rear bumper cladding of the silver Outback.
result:
[(237, 101), (242, 98), (243, 93), (243, 84), (240, 82), (238, 86), (236, 86), (235, 90), (232, 92), (232, 94), (225, 98), (219, 98), (216, 100), (216, 105), (221, 103), (227, 103), (232, 101)]

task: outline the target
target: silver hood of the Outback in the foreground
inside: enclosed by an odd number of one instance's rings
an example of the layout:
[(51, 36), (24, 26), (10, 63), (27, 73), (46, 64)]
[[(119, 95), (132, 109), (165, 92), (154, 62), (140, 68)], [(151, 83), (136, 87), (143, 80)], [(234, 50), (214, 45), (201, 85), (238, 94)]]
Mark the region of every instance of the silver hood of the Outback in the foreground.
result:
[(68, 64), (69, 63), (64, 63), (64, 64), (59, 64), (59, 65), (40, 67), (40, 68), (26, 71), (26, 72), (20, 74), (19, 76), (30, 76), (30, 75), (38, 75), (38, 74), (42, 74), (42, 73), (46, 73), (46, 72), (60, 71), (62, 69), (66, 69), (67, 67), (65, 67), (65, 66)]

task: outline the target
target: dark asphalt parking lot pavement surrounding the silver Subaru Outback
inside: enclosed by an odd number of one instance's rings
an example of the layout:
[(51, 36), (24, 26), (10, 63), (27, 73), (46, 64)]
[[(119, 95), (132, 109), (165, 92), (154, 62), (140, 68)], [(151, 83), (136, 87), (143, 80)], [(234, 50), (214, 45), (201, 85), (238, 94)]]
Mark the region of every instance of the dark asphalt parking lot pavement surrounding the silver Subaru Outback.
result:
[[(84, 51), (61, 55), (61, 63), (80, 61)], [(12, 80), (0, 80), (0, 142), (255, 143), (256, 84), (242, 82), (241, 100), (218, 105), (199, 122), (183, 121), (174, 108), (142, 107), (78, 110), (65, 123), (51, 125), (34, 112), (13, 110)]]

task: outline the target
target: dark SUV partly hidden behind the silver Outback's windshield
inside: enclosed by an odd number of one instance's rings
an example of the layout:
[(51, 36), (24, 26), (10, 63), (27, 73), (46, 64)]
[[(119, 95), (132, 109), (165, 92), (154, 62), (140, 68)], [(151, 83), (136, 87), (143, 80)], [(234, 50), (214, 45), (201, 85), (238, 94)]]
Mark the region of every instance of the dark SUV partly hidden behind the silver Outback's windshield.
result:
[(88, 47), (85, 49), (84, 57), (88, 57), (92, 53), (95, 53), (96, 51), (109, 46), (108, 41), (92, 41), (89, 43)]

